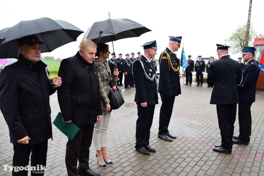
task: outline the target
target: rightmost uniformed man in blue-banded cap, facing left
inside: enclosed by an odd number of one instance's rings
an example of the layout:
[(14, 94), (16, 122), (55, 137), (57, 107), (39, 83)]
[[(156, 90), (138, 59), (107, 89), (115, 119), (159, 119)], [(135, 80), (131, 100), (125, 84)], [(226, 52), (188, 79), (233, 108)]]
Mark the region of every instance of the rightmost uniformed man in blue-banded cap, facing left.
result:
[(248, 144), (251, 135), (251, 105), (255, 102), (256, 85), (260, 68), (254, 61), (256, 49), (250, 46), (244, 46), (242, 49), (242, 58), (246, 62), (242, 68), (243, 82), (238, 87), (238, 121), (239, 136), (233, 136), (234, 144)]

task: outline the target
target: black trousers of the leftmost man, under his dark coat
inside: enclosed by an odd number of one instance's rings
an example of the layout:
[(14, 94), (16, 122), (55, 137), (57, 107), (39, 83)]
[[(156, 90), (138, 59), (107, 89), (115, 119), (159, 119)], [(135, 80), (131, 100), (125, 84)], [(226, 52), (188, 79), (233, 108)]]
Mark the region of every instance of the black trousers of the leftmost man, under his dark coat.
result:
[[(35, 145), (14, 145), (13, 149), (14, 167), (23, 166), (25, 168), (29, 164), (29, 156), (31, 152), (31, 166), (35, 166), (36, 168), (41, 168), (40, 165), (43, 167), (46, 166), (48, 140)], [(27, 176), (27, 173), (27, 170), (19, 170), (18, 172), (14, 172), (14, 169), (12, 170), (12, 175)], [(44, 173), (34, 173), (34, 171), (31, 171), (31, 175), (44, 175)]]

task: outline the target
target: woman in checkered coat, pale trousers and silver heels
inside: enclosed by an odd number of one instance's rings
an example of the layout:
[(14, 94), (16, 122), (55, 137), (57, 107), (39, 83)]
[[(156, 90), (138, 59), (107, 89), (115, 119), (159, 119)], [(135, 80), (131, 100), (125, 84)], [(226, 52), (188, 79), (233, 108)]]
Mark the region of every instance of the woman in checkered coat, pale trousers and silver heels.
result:
[(110, 67), (107, 63), (104, 62), (105, 59), (109, 58), (109, 45), (104, 43), (97, 44), (96, 58), (94, 60), (95, 65), (97, 66), (98, 73), (100, 74), (101, 80), (99, 80), (99, 91), (101, 96), (102, 104), (102, 118), (100, 121), (97, 121), (93, 130), (93, 145), (96, 150), (96, 157), (98, 164), (100, 166), (106, 166), (106, 163), (112, 163), (108, 159), (106, 154), (106, 136), (107, 128), (111, 114), (110, 100), (108, 96), (111, 94), (111, 85), (115, 85), (118, 79), (118, 69), (115, 70), (115, 77), (110, 77), (108, 72), (111, 73)]

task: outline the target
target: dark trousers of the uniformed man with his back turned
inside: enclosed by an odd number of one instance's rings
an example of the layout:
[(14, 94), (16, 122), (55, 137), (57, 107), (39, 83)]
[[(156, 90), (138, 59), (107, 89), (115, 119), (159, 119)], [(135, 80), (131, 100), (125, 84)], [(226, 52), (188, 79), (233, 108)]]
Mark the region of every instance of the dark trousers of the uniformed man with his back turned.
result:
[(237, 104), (216, 104), (221, 144), (225, 149), (232, 149)]

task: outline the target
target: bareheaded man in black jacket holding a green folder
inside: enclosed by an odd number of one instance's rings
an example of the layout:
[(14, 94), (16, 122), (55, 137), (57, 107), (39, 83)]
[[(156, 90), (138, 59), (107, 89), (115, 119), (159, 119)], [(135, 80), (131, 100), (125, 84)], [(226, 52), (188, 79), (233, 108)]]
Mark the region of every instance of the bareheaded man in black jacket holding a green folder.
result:
[[(89, 168), (89, 147), (92, 143), (94, 124), (102, 117), (99, 93), (100, 75), (93, 63), (96, 45), (83, 40), (75, 56), (63, 59), (58, 75), (63, 84), (58, 89), (58, 102), (65, 123), (80, 128), (73, 140), (66, 145), (65, 162), (68, 175), (96, 175)], [(79, 166), (77, 168), (77, 160)]]

